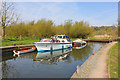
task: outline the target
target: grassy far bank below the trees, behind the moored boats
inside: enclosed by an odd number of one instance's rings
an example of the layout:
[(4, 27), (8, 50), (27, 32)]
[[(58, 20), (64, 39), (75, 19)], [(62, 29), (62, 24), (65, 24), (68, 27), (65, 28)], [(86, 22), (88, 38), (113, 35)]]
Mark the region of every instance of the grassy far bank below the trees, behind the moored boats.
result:
[[(81, 38), (71, 38), (71, 41)], [(35, 41), (39, 41), (40, 38), (31, 38), (31, 37), (13, 37), (13, 36), (6, 36), (5, 40), (0, 40), (0, 46), (14, 46), (14, 45), (26, 45), (26, 44), (33, 44)], [(108, 38), (93, 38), (90, 37), (89, 39), (83, 39), (87, 42), (105, 42), (109, 43), (118, 39), (108, 39)]]

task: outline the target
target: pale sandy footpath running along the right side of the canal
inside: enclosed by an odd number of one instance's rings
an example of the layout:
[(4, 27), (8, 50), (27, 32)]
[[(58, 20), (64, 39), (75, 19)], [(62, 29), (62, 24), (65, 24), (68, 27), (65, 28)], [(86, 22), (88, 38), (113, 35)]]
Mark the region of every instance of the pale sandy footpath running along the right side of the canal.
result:
[(107, 53), (116, 43), (108, 43), (94, 52), (94, 55), (91, 55), (81, 66), (77, 66), (77, 70), (71, 78), (107, 78)]

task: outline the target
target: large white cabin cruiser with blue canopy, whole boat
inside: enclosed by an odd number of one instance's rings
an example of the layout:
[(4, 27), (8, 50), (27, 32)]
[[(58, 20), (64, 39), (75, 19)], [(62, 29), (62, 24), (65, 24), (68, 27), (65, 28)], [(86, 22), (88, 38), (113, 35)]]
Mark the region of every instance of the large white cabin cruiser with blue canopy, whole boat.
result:
[(70, 37), (66, 35), (55, 35), (51, 39), (42, 39), (40, 42), (34, 42), (38, 52), (57, 51), (72, 47)]

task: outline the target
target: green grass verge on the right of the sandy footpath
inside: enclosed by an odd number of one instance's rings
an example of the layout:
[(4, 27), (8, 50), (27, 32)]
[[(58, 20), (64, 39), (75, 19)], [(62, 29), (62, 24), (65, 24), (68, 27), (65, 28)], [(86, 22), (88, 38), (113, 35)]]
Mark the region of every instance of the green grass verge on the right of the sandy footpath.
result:
[(107, 60), (107, 69), (110, 78), (118, 78), (118, 43), (109, 50), (109, 59)]

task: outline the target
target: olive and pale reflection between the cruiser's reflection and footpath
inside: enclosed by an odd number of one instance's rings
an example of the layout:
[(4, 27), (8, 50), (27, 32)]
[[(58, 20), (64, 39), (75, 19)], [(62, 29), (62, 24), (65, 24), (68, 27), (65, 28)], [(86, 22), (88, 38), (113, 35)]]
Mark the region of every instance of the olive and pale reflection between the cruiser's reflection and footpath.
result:
[(91, 56), (91, 54), (94, 53), (94, 51), (97, 51), (99, 48), (102, 47), (104, 44), (100, 43), (88, 43), (85, 48), (82, 49), (73, 49), (71, 52), (71, 56), (74, 58), (75, 61), (77, 60), (84, 60)]

